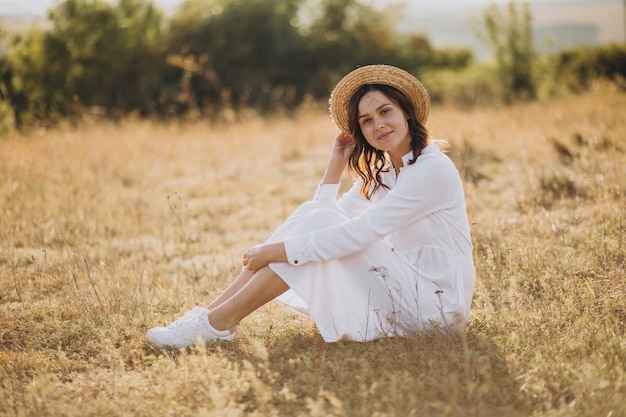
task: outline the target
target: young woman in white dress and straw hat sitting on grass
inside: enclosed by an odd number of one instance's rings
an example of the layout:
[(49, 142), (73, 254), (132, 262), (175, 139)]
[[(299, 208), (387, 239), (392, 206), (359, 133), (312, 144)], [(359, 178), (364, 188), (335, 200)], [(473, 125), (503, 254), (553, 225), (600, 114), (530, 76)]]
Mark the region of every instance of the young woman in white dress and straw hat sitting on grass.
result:
[[(411, 74), (370, 65), (330, 97), (341, 131), (312, 201), (264, 243), (211, 304), (148, 331), (156, 347), (230, 341), (237, 324), (277, 299), (315, 321), (327, 342), (460, 330), (475, 269), (463, 187), (429, 141), (430, 100)], [(337, 199), (344, 169), (357, 174)]]

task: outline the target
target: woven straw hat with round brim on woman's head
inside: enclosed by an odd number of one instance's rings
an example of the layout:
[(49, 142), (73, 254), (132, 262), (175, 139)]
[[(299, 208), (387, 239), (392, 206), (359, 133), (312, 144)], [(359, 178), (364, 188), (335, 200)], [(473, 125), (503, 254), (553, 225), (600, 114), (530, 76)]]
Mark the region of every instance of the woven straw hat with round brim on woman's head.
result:
[(396, 88), (413, 102), (419, 121), (422, 124), (426, 123), (430, 99), (417, 78), (390, 65), (367, 65), (343, 77), (330, 94), (330, 114), (333, 122), (343, 133), (351, 134), (348, 124), (348, 102), (354, 93), (366, 84), (383, 84)]

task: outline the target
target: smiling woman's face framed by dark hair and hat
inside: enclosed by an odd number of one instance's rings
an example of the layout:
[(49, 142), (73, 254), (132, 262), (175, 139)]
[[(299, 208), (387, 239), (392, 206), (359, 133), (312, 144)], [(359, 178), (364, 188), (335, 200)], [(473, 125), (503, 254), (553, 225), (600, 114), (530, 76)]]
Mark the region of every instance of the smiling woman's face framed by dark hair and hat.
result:
[(411, 150), (408, 116), (381, 91), (370, 91), (359, 101), (359, 127), (372, 147), (402, 157)]

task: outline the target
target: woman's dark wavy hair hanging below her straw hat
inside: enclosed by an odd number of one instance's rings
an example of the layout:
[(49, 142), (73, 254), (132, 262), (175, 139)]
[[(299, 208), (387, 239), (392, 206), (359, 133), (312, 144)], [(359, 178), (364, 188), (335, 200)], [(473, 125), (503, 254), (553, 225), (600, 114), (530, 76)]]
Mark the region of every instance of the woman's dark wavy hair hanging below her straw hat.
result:
[(366, 84), (361, 86), (348, 102), (348, 123), (350, 132), (356, 142), (354, 150), (350, 154), (348, 162), (348, 170), (356, 173), (363, 179), (361, 186), (361, 195), (368, 200), (380, 187), (389, 188), (385, 185), (381, 178), (381, 172), (389, 171), (390, 162), (385, 151), (371, 146), (359, 125), (359, 102), (367, 93), (372, 91), (380, 91), (386, 95), (393, 103), (400, 106), (404, 114), (408, 116), (409, 135), (411, 135), (411, 149), (413, 150), (413, 159), (409, 161), (409, 165), (414, 164), (417, 157), (422, 153), (422, 149), (428, 144), (429, 136), (426, 127), (418, 120), (415, 113), (415, 106), (411, 100), (407, 99), (398, 89), (382, 84)]

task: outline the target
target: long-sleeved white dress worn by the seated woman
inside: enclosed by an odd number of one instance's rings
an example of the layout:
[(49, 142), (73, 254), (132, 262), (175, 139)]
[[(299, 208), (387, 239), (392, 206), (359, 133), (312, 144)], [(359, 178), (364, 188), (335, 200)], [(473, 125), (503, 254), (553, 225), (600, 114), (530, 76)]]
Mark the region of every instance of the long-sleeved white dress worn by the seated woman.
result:
[(268, 242), (289, 262), (270, 268), (290, 287), (281, 303), (310, 316), (327, 342), (365, 342), (419, 331), (460, 330), (475, 269), (458, 171), (436, 143), (368, 201), (361, 182), (337, 200), (318, 188)]

